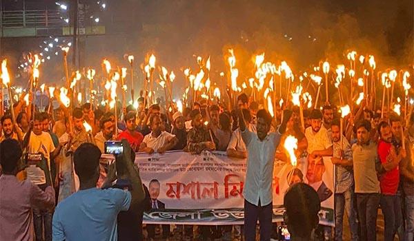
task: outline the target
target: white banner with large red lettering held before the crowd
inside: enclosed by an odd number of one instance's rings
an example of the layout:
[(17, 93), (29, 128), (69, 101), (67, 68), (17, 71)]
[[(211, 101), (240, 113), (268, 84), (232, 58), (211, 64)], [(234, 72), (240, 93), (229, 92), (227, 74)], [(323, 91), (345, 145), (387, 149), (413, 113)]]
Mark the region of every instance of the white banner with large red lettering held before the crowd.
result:
[[(135, 164), (148, 189), (157, 180), (151, 196), (157, 205), (144, 214), (146, 223), (176, 224), (243, 224), (243, 185), (246, 159), (229, 158), (226, 152), (204, 151), (191, 155), (183, 151), (165, 154), (137, 153)], [(293, 172), (293, 175), (290, 175)], [(322, 180), (321, 180), (322, 178)], [(275, 160), (273, 171), (273, 221), (283, 220), (283, 198), (288, 182), (306, 182), (321, 198), (320, 223), (334, 224), (333, 165), (325, 159), (321, 165), (309, 166), (299, 158), (297, 169)], [(155, 191), (154, 191), (155, 190)], [(161, 207), (160, 207), (161, 206)]]

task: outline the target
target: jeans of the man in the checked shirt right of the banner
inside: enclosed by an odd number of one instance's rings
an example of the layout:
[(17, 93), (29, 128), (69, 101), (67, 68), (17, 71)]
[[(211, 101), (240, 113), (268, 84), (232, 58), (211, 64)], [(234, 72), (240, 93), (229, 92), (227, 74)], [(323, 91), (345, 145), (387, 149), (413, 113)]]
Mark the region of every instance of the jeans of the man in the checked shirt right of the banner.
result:
[(344, 211), (348, 218), (351, 240), (358, 241), (357, 213), (354, 205), (353, 189), (348, 189), (344, 193), (335, 193), (335, 240), (342, 241), (342, 227), (344, 221)]

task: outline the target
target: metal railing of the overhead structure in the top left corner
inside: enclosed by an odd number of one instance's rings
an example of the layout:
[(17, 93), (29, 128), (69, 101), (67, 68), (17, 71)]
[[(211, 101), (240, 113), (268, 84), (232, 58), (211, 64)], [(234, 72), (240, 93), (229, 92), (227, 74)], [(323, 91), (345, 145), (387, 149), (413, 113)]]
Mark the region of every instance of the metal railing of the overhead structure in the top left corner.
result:
[(66, 25), (58, 10), (2, 11), (0, 14), (0, 28), (39, 28)]

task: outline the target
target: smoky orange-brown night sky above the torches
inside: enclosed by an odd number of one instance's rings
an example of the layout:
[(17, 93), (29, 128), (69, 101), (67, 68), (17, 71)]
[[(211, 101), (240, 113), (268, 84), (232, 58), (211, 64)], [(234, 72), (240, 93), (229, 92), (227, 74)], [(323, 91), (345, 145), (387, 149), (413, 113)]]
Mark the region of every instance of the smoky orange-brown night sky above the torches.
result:
[[(11, 9), (12, 5), (19, 8), (19, 2), (3, 0), (3, 9)], [(59, 8), (55, 1), (27, 2), (28, 8), (44, 9), (46, 5), (49, 9)], [(81, 2), (97, 4), (96, 0)], [(83, 39), (85, 66), (80, 67), (100, 70), (105, 57), (112, 65), (126, 66), (128, 62), (123, 58), (126, 53), (134, 54), (136, 63), (143, 63), (151, 52), (156, 54), (160, 65), (179, 72), (183, 67), (196, 66), (194, 56), (211, 55), (212, 69), (218, 74), (228, 68), (224, 59), (228, 48), (235, 50), (240, 76), (246, 78), (252, 75), (252, 57), (262, 52), (266, 53), (267, 61), (287, 61), (294, 72), (325, 59), (333, 64), (344, 63), (347, 50), (373, 54), (379, 68), (413, 65), (412, 0), (108, 0), (105, 3), (106, 9), (99, 12), (99, 19), (106, 25), (107, 34)], [(23, 61), (22, 56), (39, 52), (39, 45), (48, 39), (1, 40), (1, 57), (12, 60), (12, 71), (21, 74), (20, 81), (24, 80), (24, 73), (17, 66)], [(46, 82), (59, 81), (64, 74), (61, 55), (52, 56), (52, 61), (46, 61), (41, 68)], [(141, 72), (139, 66), (135, 71)]]

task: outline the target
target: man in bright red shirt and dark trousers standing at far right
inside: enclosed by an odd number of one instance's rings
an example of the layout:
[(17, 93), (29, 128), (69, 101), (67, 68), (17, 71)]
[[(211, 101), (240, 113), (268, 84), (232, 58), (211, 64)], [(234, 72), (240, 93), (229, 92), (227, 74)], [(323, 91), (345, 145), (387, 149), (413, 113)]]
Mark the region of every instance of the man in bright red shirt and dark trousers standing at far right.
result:
[(400, 182), (400, 160), (405, 158), (405, 149), (400, 150), (397, 155), (395, 147), (391, 143), (393, 134), (391, 127), (385, 121), (377, 127), (380, 134), (378, 143), (378, 156), (381, 159), (382, 168), (385, 173), (380, 176), (381, 199), (380, 205), (384, 214), (384, 240), (394, 240), (398, 227), (402, 224), (401, 200), (397, 196), (398, 184)]

